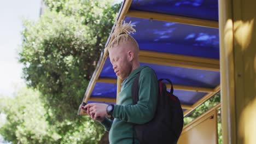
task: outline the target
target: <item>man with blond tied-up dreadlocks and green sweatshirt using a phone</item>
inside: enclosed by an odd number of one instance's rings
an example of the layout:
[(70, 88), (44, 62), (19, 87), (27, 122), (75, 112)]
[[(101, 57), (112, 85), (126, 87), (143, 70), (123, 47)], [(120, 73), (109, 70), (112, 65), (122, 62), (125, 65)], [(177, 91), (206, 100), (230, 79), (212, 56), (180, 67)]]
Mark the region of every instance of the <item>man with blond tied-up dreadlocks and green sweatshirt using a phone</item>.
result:
[[(139, 65), (139, 48), (130, 35), (132, 32), (135, 29), (130, 23), (117, 25), (113, 33), (115, 38), (108, 49), (115, 74), (124, 80), (117, 105), (91, 103), (82, 107), (109, 131), (110, 143), (139, 143), (133, 124), (149, 122), (156, 111), (158, 80), (153, 69)], [(139, 100), (132, 105), (132, 83), (139, 72)], [(112, 115), (114, 120), (106, 118), (107, 115)]]

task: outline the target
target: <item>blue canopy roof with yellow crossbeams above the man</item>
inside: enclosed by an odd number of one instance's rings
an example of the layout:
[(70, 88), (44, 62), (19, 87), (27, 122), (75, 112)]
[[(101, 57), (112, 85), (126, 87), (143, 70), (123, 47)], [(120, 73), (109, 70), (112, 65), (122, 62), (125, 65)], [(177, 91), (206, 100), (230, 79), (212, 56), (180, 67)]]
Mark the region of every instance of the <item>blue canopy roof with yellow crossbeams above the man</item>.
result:
[[(141, 65), (173, 82), (185, 115), (219, 91), (218, 0), (124, 1), (119, 20), (136, 25)], [(106, 46), (110, 40), (111, 34)], [(117, 76), (104, 52), (85, 93), (88, 103), (117, 97)]]

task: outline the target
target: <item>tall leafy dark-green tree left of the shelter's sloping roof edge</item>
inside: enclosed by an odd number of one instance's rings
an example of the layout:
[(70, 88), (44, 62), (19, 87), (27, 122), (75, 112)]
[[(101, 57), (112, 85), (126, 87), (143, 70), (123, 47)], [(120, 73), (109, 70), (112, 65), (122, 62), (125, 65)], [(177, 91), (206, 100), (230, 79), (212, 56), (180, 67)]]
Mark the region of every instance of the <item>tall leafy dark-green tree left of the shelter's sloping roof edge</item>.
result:
[(24, 21), (19, 60), (58, 121), (75, 119), (120, 5), (111, 1), (45, 1), (39, 21)]

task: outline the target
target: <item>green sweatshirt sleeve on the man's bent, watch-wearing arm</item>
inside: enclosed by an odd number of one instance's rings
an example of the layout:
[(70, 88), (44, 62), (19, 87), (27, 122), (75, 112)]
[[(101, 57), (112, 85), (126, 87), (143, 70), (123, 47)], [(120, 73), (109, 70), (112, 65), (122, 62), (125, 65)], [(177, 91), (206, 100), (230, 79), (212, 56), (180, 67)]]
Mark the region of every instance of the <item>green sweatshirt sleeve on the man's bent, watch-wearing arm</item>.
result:
[(139, 100), (136, 105), (115, 105), (113, 117), (126, 122), (143, 124), (155, 114), (158, 99), (158, 80), (152, 69), (141, 71), (139, 77)]

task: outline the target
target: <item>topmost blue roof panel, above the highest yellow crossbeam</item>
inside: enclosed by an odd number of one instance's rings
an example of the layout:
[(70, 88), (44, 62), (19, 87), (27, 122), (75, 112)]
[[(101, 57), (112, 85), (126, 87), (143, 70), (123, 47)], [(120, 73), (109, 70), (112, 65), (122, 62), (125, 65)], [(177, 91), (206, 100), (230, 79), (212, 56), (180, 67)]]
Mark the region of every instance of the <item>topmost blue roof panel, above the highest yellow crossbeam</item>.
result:
[(135, 0), (130, 9), (218, 21), (216, 0)]

